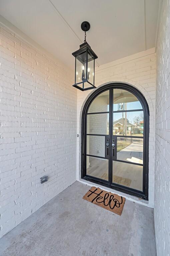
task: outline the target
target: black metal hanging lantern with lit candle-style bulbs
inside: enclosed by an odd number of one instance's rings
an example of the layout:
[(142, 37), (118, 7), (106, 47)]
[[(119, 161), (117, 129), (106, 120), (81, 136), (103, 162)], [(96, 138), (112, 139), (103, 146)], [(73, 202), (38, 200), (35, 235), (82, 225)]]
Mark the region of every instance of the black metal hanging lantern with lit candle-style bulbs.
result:
[(90, 45), (86, 42), (86, 31), (90, 29), (90, 23), (82, 22), (81, 29), (85, 32), (84, 43), (80, 49), (73, 52), (75, 57), (75, 84), (73, 85), (81, 91), (96, 88), (94, 86), (94, 68), (97, 55), (93, 52)]

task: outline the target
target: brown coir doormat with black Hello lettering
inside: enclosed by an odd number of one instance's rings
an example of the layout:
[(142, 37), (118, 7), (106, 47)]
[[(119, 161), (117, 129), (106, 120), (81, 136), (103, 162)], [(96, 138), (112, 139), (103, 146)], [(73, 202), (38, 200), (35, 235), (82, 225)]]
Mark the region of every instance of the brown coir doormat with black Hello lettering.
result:
[(91, 187), (91, 189), (89, 189), (89, 191), (83, 196), (83, 199), (119, 215), (122, 214), (125, 203), (124, 197), (96, 187)]

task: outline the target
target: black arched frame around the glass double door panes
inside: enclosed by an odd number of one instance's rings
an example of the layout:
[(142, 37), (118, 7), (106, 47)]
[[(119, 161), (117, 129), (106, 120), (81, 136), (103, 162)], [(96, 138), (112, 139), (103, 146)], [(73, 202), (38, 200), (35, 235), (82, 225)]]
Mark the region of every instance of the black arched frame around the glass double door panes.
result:
[[(124, 187), (119, 184), (109, 184), (108, 181), (104, 181), (100, 178), (92, 177), (90, 175), (86, 174), (86, 134), (87, 134), (87, 112), (88, 108), (91, 104), (91, 102), (100, 94), (101, 92), (104, 92), (106, 90), (110, 90), (110, 106), (112, 101), (112, 93), (111, 90), (113, 89), (123, 89), (131, 92), (134, 94), (140, 101), (142, 107), (143, 107), (143, 114), (144, 114), (144, 133), (143, 133), (143, 191), (139, 191), (133, 188)], [(128, 111), (129, 112), (129, 111)], [(110, 124), (109, 126), (112, 126), (112, 109), (109, 111), (109, 120)], [(111, 130), (112, 131), (112, 128)], [(111, 132), (113, 133), (113, 132)], [(102, 136), (102, 135), (99, 135)], [(110, 136), (110, 143), (112, 134)], [(118, 136), (118, 137), (126, 137), (126, 136)], [(134, 136), (136, 138), (136, 136)], [(110, 154), (111, 155), (111, 154)], [(111, 161), (110, 161), (111, 164)], [(109, 166), (111, 168), (111, 166)], [(112, 168), (111, 168), (112, 170)], [(111, 172), (109, 172), (109, 175), (111, 175)], [(133, 86), (126, 84), (126, 83), (110, 83), (107, 85), (104, 85), (98, 89), (96, 89), (87, 99), (83, 111), (82, 111), (82, 126), (81, 126), (81, 178), (99, 185), (103, 185), (105, 187), (112, 188), (114, 190), (136, 196), (139, 198), (142, 198), (144, 200), (148, 200), (148, 175), (149, 175), (149, 107), (147, 104), (146, 99), (142, 95), (138, 89), (134, 88)]]

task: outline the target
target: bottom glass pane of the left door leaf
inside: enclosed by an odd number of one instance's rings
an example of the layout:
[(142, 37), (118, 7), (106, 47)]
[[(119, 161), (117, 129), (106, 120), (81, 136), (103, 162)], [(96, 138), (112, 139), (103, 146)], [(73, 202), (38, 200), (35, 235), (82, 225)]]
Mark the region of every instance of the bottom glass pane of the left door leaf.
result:
[(108, 180), (108, 159), (86, 156), (86, 174)]

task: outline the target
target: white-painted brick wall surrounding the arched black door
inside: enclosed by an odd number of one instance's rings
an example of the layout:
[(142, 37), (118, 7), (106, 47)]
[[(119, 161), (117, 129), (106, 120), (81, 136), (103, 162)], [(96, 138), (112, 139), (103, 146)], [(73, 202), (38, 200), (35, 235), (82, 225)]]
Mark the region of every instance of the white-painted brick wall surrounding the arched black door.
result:
[[(154, 157), (155, 157), (155, 83), (156, 54), (150, 49), (96, 68), (95, 86), (110, 82), (124, 82), (136, 87), (145, 97), (150, 111), (149, 133), (149, 202), (123, 194), (126, 198), (153, 207), (154, 203)], [(81, 113), (83, 106), (94, 90), (77, 91), (77, 179), (81, 180)], [(110, 191), (110, 189), (109, 189)], [(114, 191), (114, 190), (113, 190)], [(114, 191), (117, 193), (116, 191)], [(120, 194), (120, 193), (119, 193)]]

